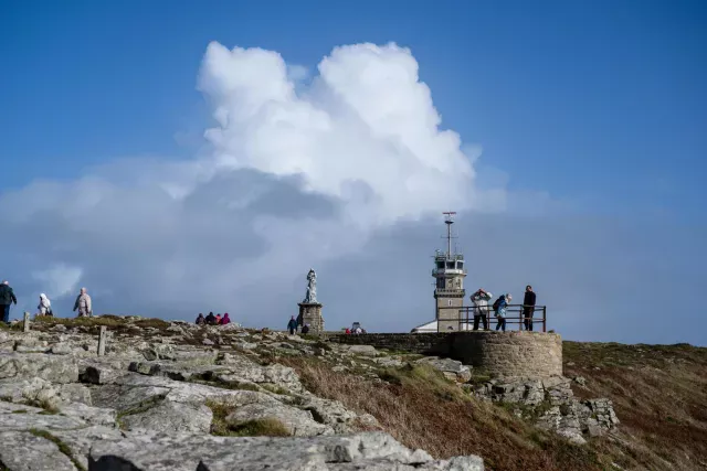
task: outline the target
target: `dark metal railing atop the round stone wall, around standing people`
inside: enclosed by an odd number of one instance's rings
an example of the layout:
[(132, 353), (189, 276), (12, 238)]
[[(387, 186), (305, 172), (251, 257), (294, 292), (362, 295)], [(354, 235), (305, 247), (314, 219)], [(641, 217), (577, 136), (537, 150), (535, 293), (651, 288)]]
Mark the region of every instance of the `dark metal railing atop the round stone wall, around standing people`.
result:
[[(474, 330), (474, 307), (473, 306), (463, 306), (463, 307), (440, 307), (440, 315), (437, 317), (437, 322), (458, 322), (460, 331), (471, 331)], [(456, 317), (450, 317), (451, 311), (456, 311)], [(444, 314), (443, 314), (444, 312)], [(526, 313), (529, 314), (526, 318)], [(494, 315), (494, 309), (488, 304), (486, 311), (486, 322), (489, 330), (495, 329), (495, 325), (492, 327), (492, 323), (497, 323), (497, 318)], [(532, 330), (536, 330), (535, 327), (539, 323), (542, 328), (542, 332), (546, 332), (547, 329), (547, 306), (535, 306), (529, 308), (528, 312), (525, 312), (523, 304), (507, 304), (506, 306), (506, 328), (509, 325), (518, 324), (518, 331), (521, 331), (525, 327), (527, 330), (527, 321), (530, 321), (530, 325)], [(439, 324), (437, 324), (439, 325)], [(479, 319), (478, 328), (483, 329), (483, 322)]]

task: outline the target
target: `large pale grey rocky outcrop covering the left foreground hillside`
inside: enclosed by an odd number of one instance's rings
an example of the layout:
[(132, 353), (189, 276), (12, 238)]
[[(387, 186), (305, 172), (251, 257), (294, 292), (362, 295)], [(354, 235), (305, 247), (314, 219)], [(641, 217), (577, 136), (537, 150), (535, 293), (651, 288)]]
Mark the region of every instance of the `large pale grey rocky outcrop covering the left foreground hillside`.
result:
[[(110, 330), (105, 356), (88, 323), (0, 331), (0, 469), (484, 469), (477, 457), (433, 460), (365, 432), (380, 429), (374, 417), (313, 395), (293, 368), (261, 360), (319, 355), (372, 375), (372, 347), (334, 351), (279, 333), (139, 318)], [(241, 436), (267, 421), (287, 437)]]

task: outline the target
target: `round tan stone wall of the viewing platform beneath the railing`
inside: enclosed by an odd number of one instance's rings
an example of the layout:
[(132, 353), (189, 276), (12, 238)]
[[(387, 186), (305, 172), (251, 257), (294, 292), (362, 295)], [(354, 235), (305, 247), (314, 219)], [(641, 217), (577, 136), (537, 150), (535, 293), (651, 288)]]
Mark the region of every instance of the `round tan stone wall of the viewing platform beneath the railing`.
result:
[(540, 332), (458, 332), (450, 356), (493, 377), (562, 375), (562, 339)]

